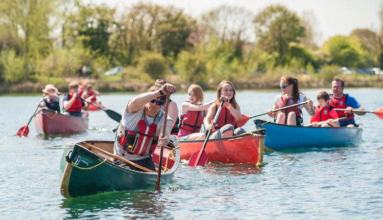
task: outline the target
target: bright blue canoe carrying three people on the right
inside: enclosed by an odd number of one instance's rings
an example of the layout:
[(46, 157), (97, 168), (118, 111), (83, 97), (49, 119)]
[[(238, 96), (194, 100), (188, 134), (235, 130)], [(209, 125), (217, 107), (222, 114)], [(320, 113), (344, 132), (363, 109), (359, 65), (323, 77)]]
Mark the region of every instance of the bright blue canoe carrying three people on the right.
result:
[(256, 119), (257, 128), (265, 128), (265, 148), (286, 150), (307, 147), (340, 147), (361, 141), (362, 127), (304, 127), (275, 124)]

